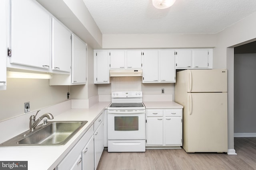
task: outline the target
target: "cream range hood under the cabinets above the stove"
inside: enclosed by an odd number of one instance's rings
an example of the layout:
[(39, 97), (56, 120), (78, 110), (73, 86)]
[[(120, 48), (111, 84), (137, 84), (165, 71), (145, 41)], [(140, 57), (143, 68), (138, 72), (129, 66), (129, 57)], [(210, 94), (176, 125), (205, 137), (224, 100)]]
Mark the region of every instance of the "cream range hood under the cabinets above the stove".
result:
[(142, 70), (109, 70), (110, 77), (141, 77)]

